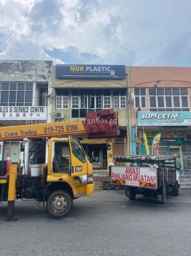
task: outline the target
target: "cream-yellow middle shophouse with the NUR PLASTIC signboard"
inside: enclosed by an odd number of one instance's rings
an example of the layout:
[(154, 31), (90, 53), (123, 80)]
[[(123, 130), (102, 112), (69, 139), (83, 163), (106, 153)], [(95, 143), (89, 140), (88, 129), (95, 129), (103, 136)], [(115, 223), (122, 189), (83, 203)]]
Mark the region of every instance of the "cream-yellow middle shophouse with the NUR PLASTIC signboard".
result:
[(128, 69), (122, 65), (56, 65), (52, 67), (51, 121), (81, 120), (87, 112), (118, 112), (120, 138), (81, 138), (95, 169), (107, 169), (115, 154), (125, 154)]

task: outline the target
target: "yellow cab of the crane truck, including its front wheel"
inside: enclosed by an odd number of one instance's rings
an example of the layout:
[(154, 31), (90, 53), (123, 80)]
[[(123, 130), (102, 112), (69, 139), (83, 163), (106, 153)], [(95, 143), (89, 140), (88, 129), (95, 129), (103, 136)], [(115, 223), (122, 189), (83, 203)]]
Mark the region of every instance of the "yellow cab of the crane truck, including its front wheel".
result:
[(93, 193), (93, 167), (79, 140), (50, 139), (46, 190), (47, 211), (56, 216), (63, 208), (66, 214), (74, 198)]

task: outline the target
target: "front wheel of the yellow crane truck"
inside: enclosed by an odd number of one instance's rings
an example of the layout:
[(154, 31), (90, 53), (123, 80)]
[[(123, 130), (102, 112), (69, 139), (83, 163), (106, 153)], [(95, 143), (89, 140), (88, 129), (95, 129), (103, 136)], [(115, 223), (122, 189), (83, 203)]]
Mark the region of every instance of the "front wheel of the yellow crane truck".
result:
[(52, 217), (63, 217), (69, 213), (73, 200), (68, 192), (56, 190), (47, 198), (47, 211)]

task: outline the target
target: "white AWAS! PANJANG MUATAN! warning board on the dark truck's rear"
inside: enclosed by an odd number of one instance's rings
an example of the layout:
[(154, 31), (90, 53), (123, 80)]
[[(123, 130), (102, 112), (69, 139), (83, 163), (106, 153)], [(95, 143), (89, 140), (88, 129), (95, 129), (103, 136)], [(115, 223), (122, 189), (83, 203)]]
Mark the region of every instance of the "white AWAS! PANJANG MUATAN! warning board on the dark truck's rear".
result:
[(157, 188), (157, 168), (112, 166), (112, 184)]

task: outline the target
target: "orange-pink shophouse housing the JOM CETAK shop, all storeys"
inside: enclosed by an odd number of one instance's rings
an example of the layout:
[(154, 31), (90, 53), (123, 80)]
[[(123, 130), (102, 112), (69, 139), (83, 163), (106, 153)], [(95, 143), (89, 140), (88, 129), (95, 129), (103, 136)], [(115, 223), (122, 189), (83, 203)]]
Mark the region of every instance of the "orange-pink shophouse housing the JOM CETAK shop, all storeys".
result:
[(145, 154), (142, 133), (160, 132), (160, 154), (176, 154), (177, 165), (191, 169), (191, 68), (130, 67), (133, 95), (132, 151)]

